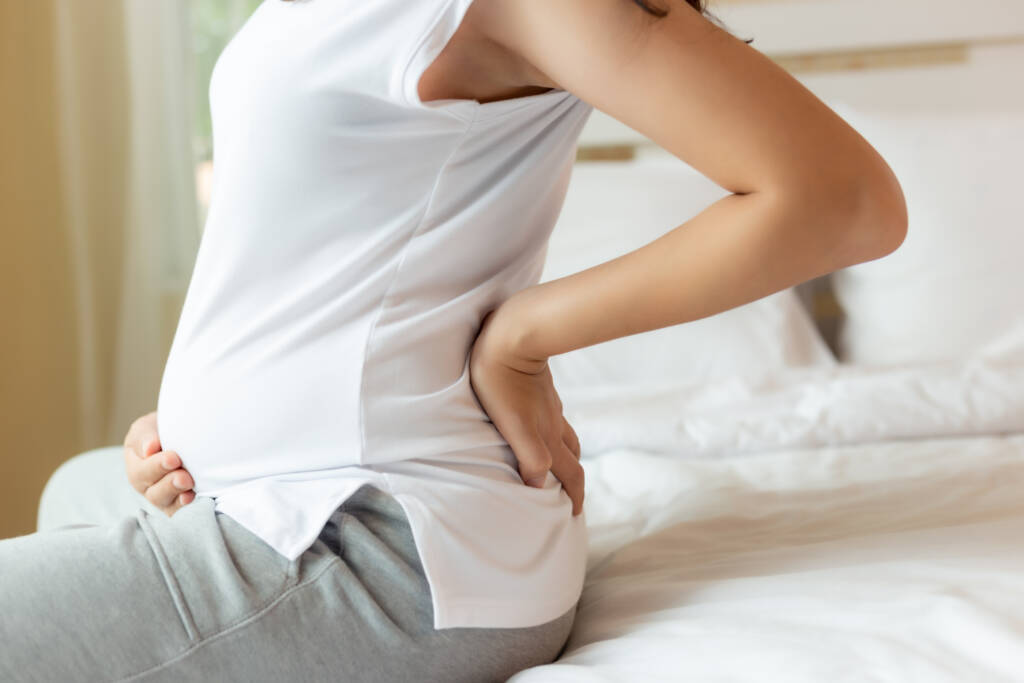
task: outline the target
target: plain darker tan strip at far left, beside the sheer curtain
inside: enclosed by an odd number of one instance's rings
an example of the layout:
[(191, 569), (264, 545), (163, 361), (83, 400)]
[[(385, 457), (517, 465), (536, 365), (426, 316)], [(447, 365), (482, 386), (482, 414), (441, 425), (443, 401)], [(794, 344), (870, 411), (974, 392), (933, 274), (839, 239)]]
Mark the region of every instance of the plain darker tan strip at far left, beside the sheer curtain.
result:
[(0, 537), (35, 530), (46, 478), (81, 445), (53, 19), (49, 2), (0, 3)]

